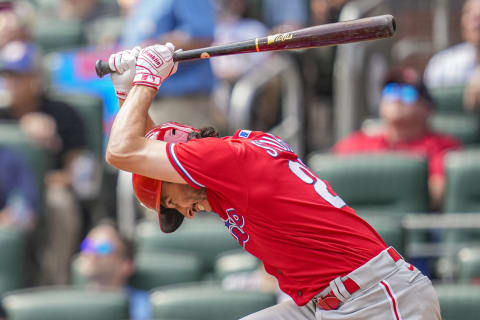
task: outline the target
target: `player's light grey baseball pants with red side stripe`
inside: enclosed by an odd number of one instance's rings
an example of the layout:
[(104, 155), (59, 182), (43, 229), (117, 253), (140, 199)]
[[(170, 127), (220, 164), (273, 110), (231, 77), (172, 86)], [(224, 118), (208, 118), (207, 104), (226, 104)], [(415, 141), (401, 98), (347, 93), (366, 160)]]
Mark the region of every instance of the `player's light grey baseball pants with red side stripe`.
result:
[[(322, 310), (314, 301), (299, 307), (287, 301), (242, 320), (440, 320), (438, 298), (428, 277), (403, 259), (394, 262), (382, 251), (343, 278), (360, 289), (336, 310)], [(333, 283), (333, 281), (332, 281)], [(332, 284), (324, 290), (330, 291)], [(337, 282), (338, 283), (338, 282)]]

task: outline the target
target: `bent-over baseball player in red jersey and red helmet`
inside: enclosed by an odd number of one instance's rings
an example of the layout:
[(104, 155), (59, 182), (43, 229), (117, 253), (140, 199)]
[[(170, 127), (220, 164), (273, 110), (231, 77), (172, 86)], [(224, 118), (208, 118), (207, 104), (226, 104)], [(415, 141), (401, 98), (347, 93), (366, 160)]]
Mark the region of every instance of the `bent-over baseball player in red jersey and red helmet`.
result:
[(215, 212), (292, 298), (244, 319), (441, 319), (430, 280), (280, 138), (155, 127), (148, 109), (177, 69), (173, 51), (167, 43), (110, 57), (122, 107), (106, 160), (134, 173), (136, 195), (158, 212), (162, 231), (175, 231), (198, 211)]

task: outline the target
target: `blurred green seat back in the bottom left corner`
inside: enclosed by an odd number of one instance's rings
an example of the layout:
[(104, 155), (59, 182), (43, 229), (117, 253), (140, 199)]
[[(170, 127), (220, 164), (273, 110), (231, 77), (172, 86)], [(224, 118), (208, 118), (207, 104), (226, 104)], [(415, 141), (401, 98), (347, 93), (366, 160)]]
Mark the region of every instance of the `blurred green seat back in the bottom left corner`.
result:
[(125, 292), (43, 287), (11, 292), (3, 299), (8, 319), (120, 320), (128, 319)]

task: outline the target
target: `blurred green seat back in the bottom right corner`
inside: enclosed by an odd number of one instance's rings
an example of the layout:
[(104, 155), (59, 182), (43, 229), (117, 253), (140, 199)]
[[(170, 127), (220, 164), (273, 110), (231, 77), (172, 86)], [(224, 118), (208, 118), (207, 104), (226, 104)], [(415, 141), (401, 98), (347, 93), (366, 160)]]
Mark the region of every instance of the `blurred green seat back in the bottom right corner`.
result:
[(444, 320), (477, 320), (480, 311), (480, 286), (436, 285)]

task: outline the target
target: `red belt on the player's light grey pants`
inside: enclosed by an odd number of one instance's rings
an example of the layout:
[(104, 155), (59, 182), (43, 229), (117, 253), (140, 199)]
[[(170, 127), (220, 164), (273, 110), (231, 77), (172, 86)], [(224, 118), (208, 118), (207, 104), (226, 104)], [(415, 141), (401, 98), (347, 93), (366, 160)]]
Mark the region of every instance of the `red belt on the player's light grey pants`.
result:
[[(393, 262), (397, 262), (402, 259), (400, 254), (393, 247), (388, 248), (386, 252), (392, 258)], [(360, 286), (354, 280), (349, 278), (348, 275), (343, 280), (342, 278), (338, 277), (330, 281), (330, 285), (321, 293), (316, 295), (313, 298), (313, 301), (323, 310), (336, 310), (338, 307), (340, 307), (342, 302), (345, 302), (347, 299), (349, 299), (351, 295), (357, 292), (359, 289)]]

